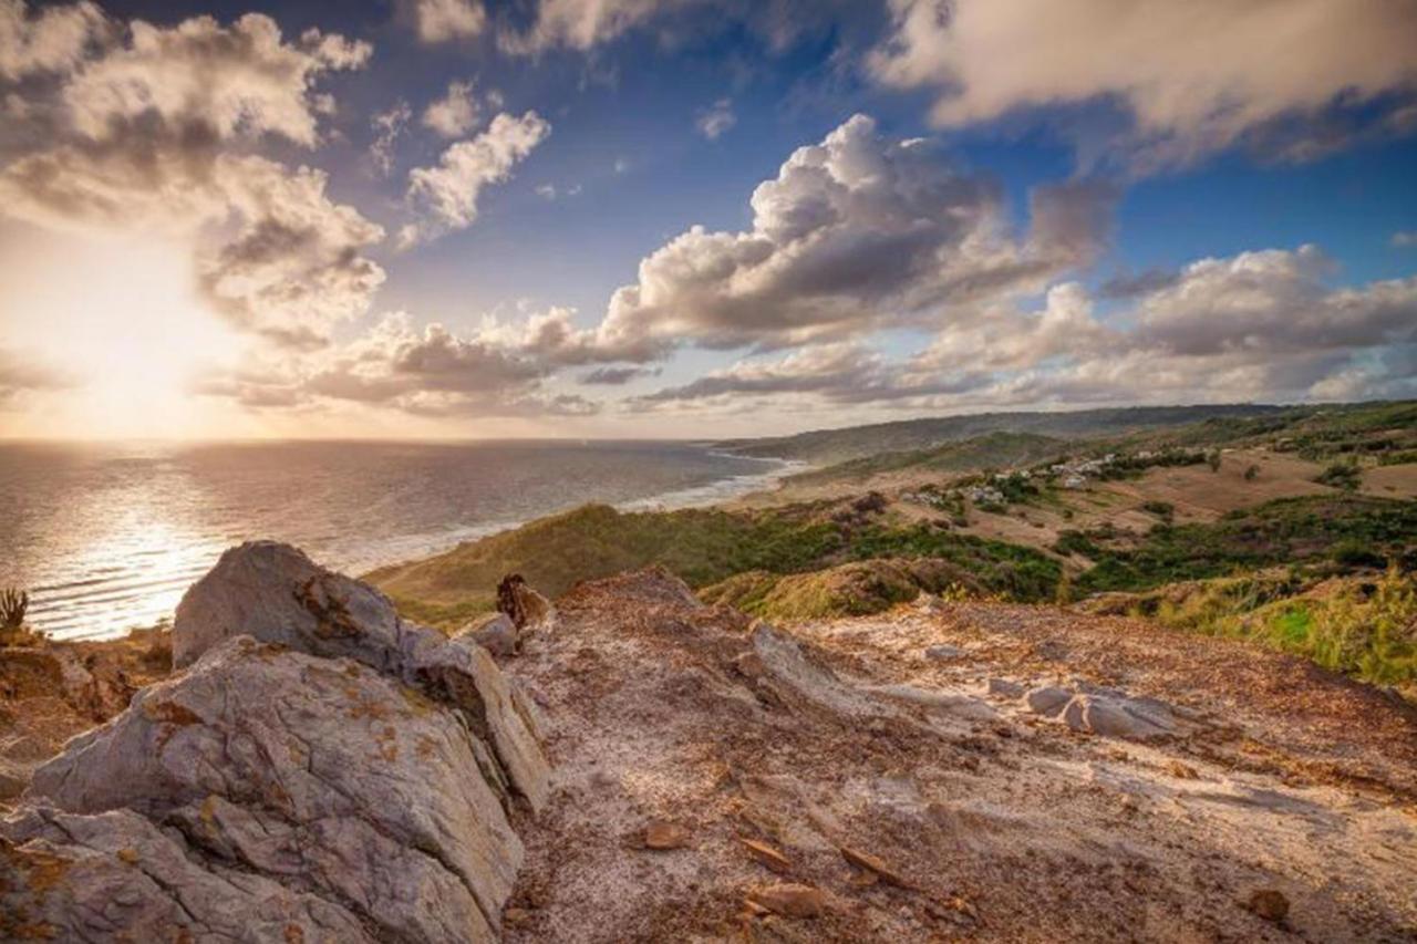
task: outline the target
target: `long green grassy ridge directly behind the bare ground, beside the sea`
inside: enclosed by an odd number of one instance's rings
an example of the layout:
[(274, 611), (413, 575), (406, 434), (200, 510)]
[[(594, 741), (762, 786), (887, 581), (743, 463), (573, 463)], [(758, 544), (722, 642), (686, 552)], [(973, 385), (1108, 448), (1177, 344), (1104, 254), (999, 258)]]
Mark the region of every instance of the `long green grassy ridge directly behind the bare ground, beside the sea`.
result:
[(799, 574), (874, 558), (932, 558), (952, 578), (972, 580), (990, 594), (1049, 600), (1058, 563), (1005, 541), (955, 534), (931, 524), (896, 526), (832, 515), (825, 505), (774, 512), (622, 513), (604, 505), (546, 517), (524, 527), (463, 544), (424, 561), (368, 575), (415, 619), (449, 625), (492, 607), (507, 573), (520, 573), (547, 594), (577, 580), (660, 564), (693, 587), (734, 574)]

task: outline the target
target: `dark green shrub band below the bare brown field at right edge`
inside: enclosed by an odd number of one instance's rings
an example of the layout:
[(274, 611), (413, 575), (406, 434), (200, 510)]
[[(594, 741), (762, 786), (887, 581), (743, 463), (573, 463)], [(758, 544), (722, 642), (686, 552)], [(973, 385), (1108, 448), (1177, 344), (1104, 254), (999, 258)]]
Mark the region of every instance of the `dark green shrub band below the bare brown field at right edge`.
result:
[[(1108, 543), (1095, 532), (1064, 532), (1058, 544), (1097, 561), (1078, 590), (1151, 590), (1182, 580), (1223, 577), (1277, 564), (1352, 567), (1345, 549), (1359, 546), (1367, 563), (1413, 567), (1417, 502), (1363, 496), (1278, 499), (1210, 524), (1153, 527), (1135, 546)], [(1338, 557), (1342, 556), (1343, 560)]]

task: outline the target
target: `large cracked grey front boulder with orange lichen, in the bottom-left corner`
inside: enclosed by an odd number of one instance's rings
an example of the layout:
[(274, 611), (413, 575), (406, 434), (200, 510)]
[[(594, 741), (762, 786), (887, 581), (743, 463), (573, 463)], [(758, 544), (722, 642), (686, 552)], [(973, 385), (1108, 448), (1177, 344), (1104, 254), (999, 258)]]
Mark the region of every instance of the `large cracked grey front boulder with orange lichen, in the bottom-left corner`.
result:
[(0, 887), (78, 940), (490, 941), (523, 855), (497, 780), (419, 689), (238, 636), (35, 771)]

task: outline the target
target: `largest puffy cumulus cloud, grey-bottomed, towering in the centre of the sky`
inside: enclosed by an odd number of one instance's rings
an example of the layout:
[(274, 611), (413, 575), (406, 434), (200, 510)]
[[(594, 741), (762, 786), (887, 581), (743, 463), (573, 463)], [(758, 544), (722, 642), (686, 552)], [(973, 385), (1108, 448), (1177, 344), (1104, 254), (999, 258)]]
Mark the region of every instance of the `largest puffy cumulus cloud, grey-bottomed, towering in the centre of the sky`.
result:
[(1114, 200), (1085, 181), (1040, 189), (1016, 240), (996, 181), (856, 115), (758, 186), (750, 230), (693, 227), (642, 259), (601, 333), (731, 349), (932, 325), (1090, 261)]

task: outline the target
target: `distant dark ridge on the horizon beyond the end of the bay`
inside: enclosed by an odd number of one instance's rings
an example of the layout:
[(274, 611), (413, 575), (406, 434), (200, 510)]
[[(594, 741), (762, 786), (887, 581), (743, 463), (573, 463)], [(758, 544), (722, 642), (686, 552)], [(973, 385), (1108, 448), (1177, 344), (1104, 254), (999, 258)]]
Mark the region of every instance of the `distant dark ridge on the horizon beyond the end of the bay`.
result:
[(1085, 438), (1122, 435), (1156, 427), (1178, 427), (1213, 418), (1265, 417), (1294, 410), (1306, 408), (1217, 404), (1127, 407), (1071, 412), (981, 412), (964, 417), (903, 420), (843, 429), (815, 429), (767, 439), (730, 439), (718, 445), (740, 455), (799, 459), (822, 465), (876, 456), (883, 452), (930, 449), (945, 442), (990, 432), (1032, 432), (1044, 437)]

